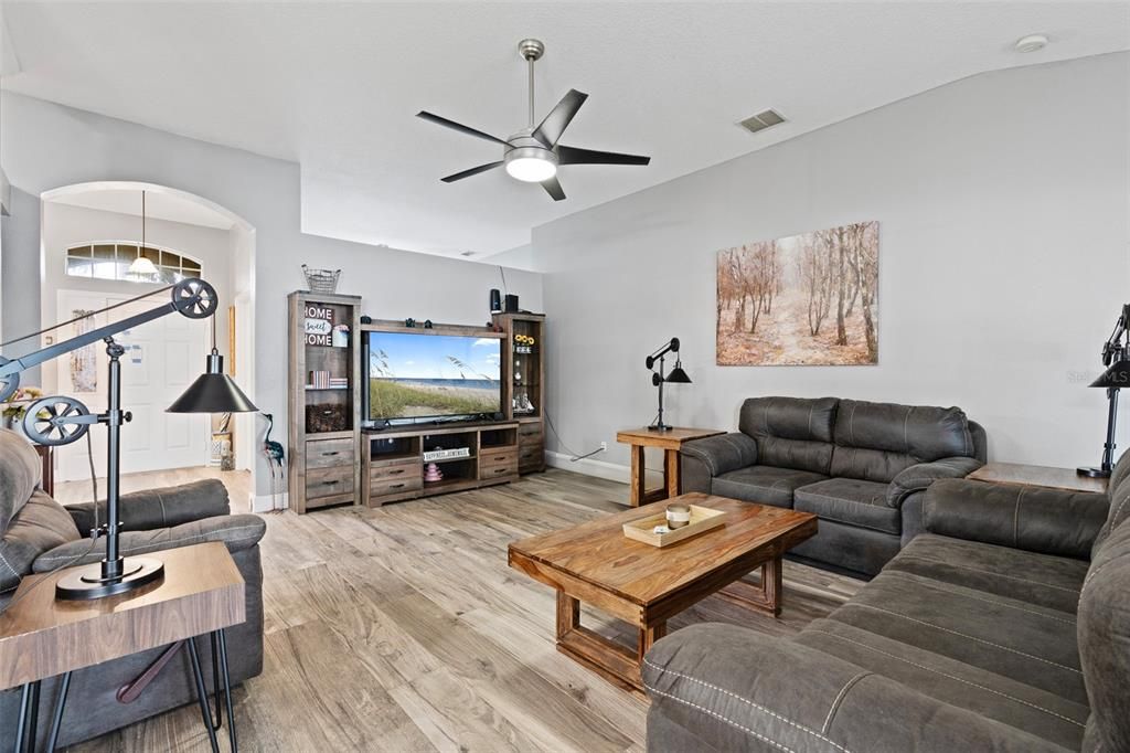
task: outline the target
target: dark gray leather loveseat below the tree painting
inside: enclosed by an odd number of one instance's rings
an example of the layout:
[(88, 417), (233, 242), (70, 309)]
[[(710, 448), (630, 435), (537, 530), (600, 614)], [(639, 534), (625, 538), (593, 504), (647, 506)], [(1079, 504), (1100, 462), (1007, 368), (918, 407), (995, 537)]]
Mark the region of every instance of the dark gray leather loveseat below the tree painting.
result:
[(750, 398), (738, 431), (687, 442), (683, 491), (794, 508), (819, 533), (791, 554), (873, 575), (922, 530), (922, 494), (985, 460), (960, 408)]

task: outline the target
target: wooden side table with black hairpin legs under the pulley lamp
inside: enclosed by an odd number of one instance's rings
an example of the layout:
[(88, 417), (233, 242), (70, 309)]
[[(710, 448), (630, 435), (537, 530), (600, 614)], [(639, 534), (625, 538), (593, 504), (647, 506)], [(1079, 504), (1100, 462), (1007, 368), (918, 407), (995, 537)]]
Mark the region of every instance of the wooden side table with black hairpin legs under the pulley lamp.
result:
[(55, 600), (55, 582), (75, 568), (28, 575), (19, 585), (18, 601), (0, 614), (0, 690), (23, 686), (17, 753), (35, 750), (43, 680), (62, 676), (46, 746), (54, 751), (72, 672), (179, 641), (189, 650), (200, 712), (211, 748), (218, 752), (219, 724), (212, 722), (195, 647), (195, 637), (205, 634), (212, 637), (214, 650), (218, 647), (228, 742), (233, 752), (237, 750), (224, 629), (246, 620), (243, 577), (227, 547), (218, 542), (165, 549), (153, 556), (165, 563), (164, 580), (104, 599)]

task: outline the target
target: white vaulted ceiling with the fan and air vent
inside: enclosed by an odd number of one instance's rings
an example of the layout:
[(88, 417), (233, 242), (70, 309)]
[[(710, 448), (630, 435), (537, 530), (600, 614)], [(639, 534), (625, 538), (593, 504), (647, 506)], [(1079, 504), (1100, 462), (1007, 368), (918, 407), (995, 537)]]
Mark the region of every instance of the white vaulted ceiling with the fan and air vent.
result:
[[(531, 227), (973, 73), (1130, 47), (1128, 2), (5, 2), (5, 88), (302, 164), (303, 230), (478, 256)], [(1012, 43), (1048, 34), (1043, 51)], [(650, 154), (566, 166), (568, 199), (503, 171), (442, 175), (524, 126), (516, 43), (546, 42), (538, 116), (591, 96), (564, 142)], [(786, 124), (734, 123), (766, 107)]]

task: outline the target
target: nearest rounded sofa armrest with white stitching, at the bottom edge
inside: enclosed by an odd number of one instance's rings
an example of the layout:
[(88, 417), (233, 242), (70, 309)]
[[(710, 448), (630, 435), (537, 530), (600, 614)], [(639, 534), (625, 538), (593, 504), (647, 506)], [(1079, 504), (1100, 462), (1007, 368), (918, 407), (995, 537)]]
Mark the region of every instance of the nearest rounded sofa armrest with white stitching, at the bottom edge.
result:
[[(1062, 751), (829, 654), (736, 625), (672, 633), (647, 652), (642, 674), (651, 715), (712, 751)], [(649, 739), (649, 750), (673, 753), (661, 741)]]

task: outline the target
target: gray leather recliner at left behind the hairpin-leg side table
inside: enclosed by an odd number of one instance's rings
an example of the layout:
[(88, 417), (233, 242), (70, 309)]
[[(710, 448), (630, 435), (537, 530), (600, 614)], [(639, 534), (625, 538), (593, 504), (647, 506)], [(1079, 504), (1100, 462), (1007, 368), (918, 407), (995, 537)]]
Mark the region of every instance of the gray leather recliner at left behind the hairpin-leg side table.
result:
[[(19, 581), (32, 572), (47, 572), (90, 548), (86, 536), (94, 526), (93, 503), (64, 508), (36, 490), (40, 458), (27, 441), (0, 430), (0, 609), (12, 598)], [(105, 522), (105, 505), (99, 505)], [(227, 631), (228, 661), (233, 683), (262, 672), (263, 603), (259, 540), (266, 530), (261, 518), (228, 514), (228, 497), (218, 481), (127, 494), (121, 501), (123, 534), (120, 543), (127, 556), (224, 542), (246, 582), (246, 615), (242, 625)], [(104, 547), (95, 547), (75, 564), (97, 562)], [(202, 651), (205, 680), (212, 687), (211, 649), (198, 641)], [(195, 702), (185, 651), (180, 651), (156, 680), (132, 703), (120, 703), (119, 687), (134, 680), (159, 656), (154, 649), (107, 661), (73, 673), (63, 717), (60, 745), (81, 742), (146, 719), (184, 703)], [(50, 720), (58, 694), (58, 678), (44, 681), (40, 719)], [(19, 690), (0, 692), (0, 750), (15, 744)], [(45, 744), (50, 724), (40, 724), (38, 745)], [(201, 727), (201, 735), (203, 729)]]

